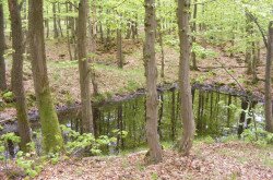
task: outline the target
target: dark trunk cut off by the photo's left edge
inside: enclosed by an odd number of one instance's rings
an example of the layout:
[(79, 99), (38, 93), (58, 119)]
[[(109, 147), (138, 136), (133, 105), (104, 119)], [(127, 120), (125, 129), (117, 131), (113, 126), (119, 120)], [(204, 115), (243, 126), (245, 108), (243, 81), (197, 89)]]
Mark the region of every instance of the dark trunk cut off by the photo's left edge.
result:
[(0, 3), (0, 91), (7, 89), (5, 80), (5, 63), (4, 63), (4, 16), (3, 16), (3, 5)]

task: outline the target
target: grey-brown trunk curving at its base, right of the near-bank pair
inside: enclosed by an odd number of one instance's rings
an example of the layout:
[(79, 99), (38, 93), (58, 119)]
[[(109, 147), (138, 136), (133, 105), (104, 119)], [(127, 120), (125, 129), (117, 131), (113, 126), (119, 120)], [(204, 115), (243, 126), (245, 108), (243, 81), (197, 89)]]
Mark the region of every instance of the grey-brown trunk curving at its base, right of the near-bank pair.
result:
[(179, 91), (181, 118), (183, 123), (183, 135), (179, 145), (179, 152), (189, 155), (194, 137), (194, 119), (192, 112), (192, 98), (190, 85), (190, 0), (178, 0), (178, 32), (180, 41), (180, 60), (179, 60)]

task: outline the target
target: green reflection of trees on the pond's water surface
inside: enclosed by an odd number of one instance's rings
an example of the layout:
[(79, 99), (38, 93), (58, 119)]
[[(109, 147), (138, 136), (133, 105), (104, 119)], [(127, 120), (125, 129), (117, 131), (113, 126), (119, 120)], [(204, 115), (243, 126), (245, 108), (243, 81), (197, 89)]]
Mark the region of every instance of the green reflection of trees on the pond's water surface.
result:
[[(198, 136), (218, 137), (230, 133), (240, 134), (244, 124), (249, 123), (246, 111), (249, 105), (238, 96), (192, 89), (192, 101)], [(175, 141), (181, 135), (179, 94), (170, 89), (158, 95), (158, 134), (161, 141)], [(114, 136), (114, 130), (127, 131), (126, 139), (117, 136), (117, 149), (130, 149), (145, 145), (145, 96), (93, 107), (95, 135)], [(79, 117), (79, 116), (78, 116)], [(247, 119), (247, 120), (246, 120)], [(67, 122), (72, 129), (80, 130), (81, 121), (72, 117)]]

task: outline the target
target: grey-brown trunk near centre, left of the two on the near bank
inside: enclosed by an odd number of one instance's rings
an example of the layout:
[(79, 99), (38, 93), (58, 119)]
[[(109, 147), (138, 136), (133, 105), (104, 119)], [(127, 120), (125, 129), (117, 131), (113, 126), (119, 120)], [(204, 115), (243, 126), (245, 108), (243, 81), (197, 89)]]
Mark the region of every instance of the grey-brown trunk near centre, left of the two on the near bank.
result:
[(145, 43), (144, 43), (144, 64), (146, 75), (146, 137), (149, 153), (146, 159), (150, 164), (162, 161), (162, 147), (157, 134), (158, 127), (158, 101), (156, 91), (157, 69), (155, 60), (155, 1), (145, 0)]

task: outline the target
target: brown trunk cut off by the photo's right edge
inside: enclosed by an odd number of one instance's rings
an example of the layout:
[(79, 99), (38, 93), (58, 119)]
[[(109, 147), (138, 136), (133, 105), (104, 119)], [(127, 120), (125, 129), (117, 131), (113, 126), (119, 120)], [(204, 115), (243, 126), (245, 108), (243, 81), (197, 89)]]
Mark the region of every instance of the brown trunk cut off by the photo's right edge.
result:
[(265, 65), (265, 129), (273, 132), (272, 96), (271, 96), (271, 68), (273, 59), (273, 22), (269, 25), (269, 44)]

